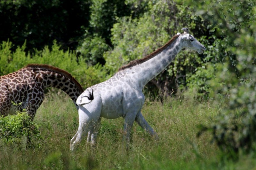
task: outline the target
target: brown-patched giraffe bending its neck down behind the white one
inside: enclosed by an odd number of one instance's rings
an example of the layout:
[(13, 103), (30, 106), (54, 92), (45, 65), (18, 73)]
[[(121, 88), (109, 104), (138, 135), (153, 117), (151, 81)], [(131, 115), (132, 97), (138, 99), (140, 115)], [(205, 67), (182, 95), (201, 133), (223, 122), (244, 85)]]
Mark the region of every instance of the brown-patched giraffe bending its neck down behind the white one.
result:
[[(48, 87), (66, 92), (78, 109), (76, 99), (84, 90), (71, 74), (45, 64), (29, 64), (0, 77), (0, 115), (15, 114), (25, 108), (33, 120)], [(14, 106), (11, 101), (22, 104)]]

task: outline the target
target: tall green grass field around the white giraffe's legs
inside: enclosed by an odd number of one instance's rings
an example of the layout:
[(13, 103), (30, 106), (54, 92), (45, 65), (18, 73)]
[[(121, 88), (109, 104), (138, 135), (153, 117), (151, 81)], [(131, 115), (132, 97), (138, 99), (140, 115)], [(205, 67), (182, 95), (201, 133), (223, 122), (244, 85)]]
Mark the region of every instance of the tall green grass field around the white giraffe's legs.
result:
[(62, 92), (47, 93), (36, 113), (40, 127), (40, 147), (20, 147), (0, 143), (0, 169), (253, 169), (255, 160), (240, 156), (238, 162), (223, 160), (211, 143), (211, 135), (197, 138), (197, 126), (214, 121), (223, 105), (194, 102), (192, 99), (146, 100), (142, 113), (157, 131), (154, 141), (134, 123), (129, 151), (122, 143), (123, 118), (102, 119), (97, 144), (86, 138), (74, 153), (69, 141), (78, 128), (78, 114), (71, 99)]

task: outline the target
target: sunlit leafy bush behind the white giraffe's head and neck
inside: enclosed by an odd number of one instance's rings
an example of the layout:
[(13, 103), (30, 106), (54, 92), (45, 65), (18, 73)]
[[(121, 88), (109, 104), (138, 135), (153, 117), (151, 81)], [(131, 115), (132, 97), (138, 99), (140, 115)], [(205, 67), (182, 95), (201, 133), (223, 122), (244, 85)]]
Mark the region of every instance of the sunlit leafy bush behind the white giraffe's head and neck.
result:
[[(200, 87), (194, 87), (198, 88), (196, 91), (207, 95), (208, 87), (202, 86), (209, 77), (205, 78), (202, 74), (194, 78), (190, 77), (197, 70), (205, 68), (207, 62), (222, 61), (226, 47), (222, 43), (223, 37), (215, 35), (215, 29), (211, 27), (209, 21), (196, 14), (192, 7), (175, 2), (127, 1), (126, 3), (134, 10), (137, 8), (147, 10), (136, 18), (132, 16), (119, 18), (111, 29), (111, 42), (114, 49), (103, 55), (106, 60), (105, 67), (110, 74), (114, 74), (120, 66), (129, 61), (143, 58), (161, 47), (174, 34), (181, 32), (182, 27), (186, 26), (190, 29), (191, 34), (206, 46), (206, 52), (198, 55), (196, 52), (181, 51), (170, 66), (147, 85), (148, 90), (154, 94), (157, 87), (165, 95), (170, 95), (179, 87), (186, 89), (188, 84), (191, 85), (196, 81), (196, 84), (201, 84)], [(197, 71), (197, 73), (199, 72)], [(208, 74), (208, 76), (210, 75)]]

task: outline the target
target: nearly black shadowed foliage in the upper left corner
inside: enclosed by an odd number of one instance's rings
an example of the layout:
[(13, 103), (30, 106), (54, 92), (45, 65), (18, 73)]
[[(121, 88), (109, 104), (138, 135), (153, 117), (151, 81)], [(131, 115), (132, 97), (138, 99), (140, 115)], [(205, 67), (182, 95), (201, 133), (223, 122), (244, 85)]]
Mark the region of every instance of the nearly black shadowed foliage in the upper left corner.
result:
[[(91, 1), (0, 1), (0, 41), (10, 39), (27, 50), (42, 49), (58, 40), (64, 49), (74, 50), (89, 26)], [(13, 50), (13, 49), (12, 49)]]

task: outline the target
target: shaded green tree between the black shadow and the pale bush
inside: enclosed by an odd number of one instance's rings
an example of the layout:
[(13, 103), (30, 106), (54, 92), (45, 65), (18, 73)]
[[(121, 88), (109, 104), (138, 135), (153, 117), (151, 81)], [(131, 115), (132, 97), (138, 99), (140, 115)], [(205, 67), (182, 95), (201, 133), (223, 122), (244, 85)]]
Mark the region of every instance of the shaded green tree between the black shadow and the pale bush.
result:
[(103, 53), (112, 47), (111, 28), (116, 19), (130, 15), (130, 8), (124, 0), (92, 0), (90, 10), (90, 27), (84, 34), (77, 52), (92, 65), (104, 65)]

